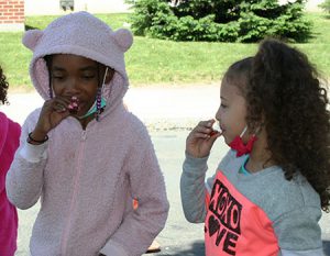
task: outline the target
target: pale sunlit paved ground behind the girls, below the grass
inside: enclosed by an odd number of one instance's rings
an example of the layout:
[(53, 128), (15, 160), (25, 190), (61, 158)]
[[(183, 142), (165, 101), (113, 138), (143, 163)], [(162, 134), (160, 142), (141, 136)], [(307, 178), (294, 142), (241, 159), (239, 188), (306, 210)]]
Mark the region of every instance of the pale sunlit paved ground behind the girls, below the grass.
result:
[[(202, 256), (204, 225), (188, 223), (182, 210), (179, 177), (184, 160), (185, 140), (198, 121), (215, 116), (219, 105), (219, 85), (139, 87), (129, 89), (124, 102), (150, 130), (152, 141), (164, 172), (170, 210), (165, 229), (157, 242), (162, 252), (155, 256)], [(10, 105), (1, 111), (23, 123), (26, 115), (43, 100), (35, 92), (9, 94)], [(220, 140), (212, 148), (208, 175), (212, 175), (218, 162), (228, 147)], [(19, 211), (19, 249), (15, 256), (26, 256), (31, 227), (37, 214), (38, 204)], [(324, 254), (330, 256), (330, 213), (320, 221)]]

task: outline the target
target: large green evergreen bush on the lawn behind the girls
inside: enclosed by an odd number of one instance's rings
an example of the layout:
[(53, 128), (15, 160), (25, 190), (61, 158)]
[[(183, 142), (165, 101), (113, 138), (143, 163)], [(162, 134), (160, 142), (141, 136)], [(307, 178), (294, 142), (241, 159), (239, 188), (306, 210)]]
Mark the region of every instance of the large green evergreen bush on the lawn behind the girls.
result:
[(304, 42), (311, 24), (302, 10), (302, 0), (284, 5), (277, 0), (136, 0), (131, 23), (134, 34), (162, 40), (256, 42), (276, 36)]

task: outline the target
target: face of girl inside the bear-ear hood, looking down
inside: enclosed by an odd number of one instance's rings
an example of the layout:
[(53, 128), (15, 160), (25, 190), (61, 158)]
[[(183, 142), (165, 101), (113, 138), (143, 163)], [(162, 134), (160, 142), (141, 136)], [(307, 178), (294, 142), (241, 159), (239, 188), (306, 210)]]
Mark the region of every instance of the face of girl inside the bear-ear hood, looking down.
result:
[(105, 67), (97, 62), (70, 54), (52, 57), (52, 87), (56, 97), (79, 102), (77, 115), (84, 115), (96, 100), (97, 89), (102, 82)]

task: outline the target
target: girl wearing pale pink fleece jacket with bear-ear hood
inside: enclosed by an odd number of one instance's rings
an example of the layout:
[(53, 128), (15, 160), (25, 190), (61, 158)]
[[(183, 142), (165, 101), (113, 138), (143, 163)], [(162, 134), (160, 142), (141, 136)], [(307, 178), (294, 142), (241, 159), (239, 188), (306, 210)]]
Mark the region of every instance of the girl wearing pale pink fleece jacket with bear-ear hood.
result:
[(7, 191), (20, 209), (40, 199), (32, 256), (138, 256), (165, 225), (168, 202), (150, 135), (122, 101), (132, 42), (128, 30), (112, 31), (87, 12), (23, 37), (45, 102), (24, 122)]

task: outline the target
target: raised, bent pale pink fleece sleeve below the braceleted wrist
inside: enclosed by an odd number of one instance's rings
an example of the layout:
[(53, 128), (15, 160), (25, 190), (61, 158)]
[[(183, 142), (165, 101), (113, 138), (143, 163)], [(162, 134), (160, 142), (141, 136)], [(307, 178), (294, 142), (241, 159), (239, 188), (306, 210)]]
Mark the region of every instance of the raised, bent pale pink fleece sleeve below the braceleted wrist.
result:
[(42, 192), (43, 169), (46, 164), (47, 144), (38, 146), (26, 142), (28, 134), (34, 129), (38, 111), (29, 115), (22, 126), (20, 147), (7, 174), (8, 199), (20, 209), (33, 207)]

